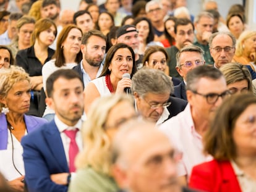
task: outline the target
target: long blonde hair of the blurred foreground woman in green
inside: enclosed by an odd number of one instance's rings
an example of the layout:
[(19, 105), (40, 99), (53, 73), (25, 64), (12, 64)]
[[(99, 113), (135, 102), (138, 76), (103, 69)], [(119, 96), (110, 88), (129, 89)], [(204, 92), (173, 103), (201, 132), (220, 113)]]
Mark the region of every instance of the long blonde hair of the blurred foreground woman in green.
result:
[(77, 169), (90, 166), (97, 172), (110, 174), (111, 140), (106, 134), (105, 123), (111, 109), (122, 101), (133, 105), (132, 98), (126, 94), (113, 94), (98, 98), (93, 102), (87, 120), (82, 126), (84, 146), (75, 159)]

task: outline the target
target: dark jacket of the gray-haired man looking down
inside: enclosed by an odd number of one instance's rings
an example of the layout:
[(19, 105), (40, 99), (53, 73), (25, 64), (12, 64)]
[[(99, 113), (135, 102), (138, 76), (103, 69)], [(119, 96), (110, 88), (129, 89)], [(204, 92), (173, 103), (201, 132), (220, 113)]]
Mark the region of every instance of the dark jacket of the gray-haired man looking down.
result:
[(171, 96), (169, 98), (169, 101), (171, 102), (171, 105), (167, 107), (170, 113), (168, 119), (184, 111), (185, 107), (187, 106), (187, 101), (185, 101), (184, 99), (174, 98)]

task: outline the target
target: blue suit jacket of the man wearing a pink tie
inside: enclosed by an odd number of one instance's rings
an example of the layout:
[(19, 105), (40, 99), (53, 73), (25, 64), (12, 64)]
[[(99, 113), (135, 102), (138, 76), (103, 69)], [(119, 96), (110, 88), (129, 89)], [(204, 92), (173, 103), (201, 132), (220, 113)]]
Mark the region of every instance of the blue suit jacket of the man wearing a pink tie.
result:
[(25, 183), (30, 192), (61, 192), (67, 186), (51, 181), (54, 173), (69, 172), (61, 135), (54, 120), (22, 138)]

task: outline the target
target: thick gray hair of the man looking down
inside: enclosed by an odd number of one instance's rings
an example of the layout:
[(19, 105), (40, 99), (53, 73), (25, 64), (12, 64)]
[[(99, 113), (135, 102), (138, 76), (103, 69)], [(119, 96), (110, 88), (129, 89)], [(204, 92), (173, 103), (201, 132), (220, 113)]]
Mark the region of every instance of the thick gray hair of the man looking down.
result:
[(132, 93), (137, 92), (140, 96), (147, 93), (163, 94), (173, 93), (173, 81), (161, 70), (141, 69), (132, 77)]

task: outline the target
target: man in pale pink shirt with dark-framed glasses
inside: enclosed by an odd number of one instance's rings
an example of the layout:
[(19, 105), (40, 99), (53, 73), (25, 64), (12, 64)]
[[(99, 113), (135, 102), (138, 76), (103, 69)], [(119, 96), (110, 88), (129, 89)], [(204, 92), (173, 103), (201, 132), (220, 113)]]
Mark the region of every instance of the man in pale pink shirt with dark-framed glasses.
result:
[(184, 111), (160, 126), (160, 130), (182, 152), (182, 159), (178, 164), (182, 185), (187, 185), (194, 165), (211, 159), (203, 153), (202, 136), (216, 109), (230, 95), (223, 74), (209, 65), (190, 70), (186, 80), (189, 104)]

